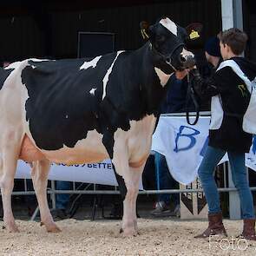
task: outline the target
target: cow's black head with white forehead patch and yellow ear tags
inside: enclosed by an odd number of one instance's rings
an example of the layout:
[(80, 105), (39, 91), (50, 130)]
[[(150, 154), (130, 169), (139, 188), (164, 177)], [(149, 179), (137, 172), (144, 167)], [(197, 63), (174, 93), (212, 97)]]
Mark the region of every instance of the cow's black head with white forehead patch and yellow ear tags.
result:
[(200, 23), (193, 23), (184, 29), (168, 17), (162, 17), (151, 26), (141, 22), (141, 34), (150, 42), (159, 68), (167, 74), (194, 66), (194, 54), (185, 49), (185, 44), (199, 37), (201, 28)]

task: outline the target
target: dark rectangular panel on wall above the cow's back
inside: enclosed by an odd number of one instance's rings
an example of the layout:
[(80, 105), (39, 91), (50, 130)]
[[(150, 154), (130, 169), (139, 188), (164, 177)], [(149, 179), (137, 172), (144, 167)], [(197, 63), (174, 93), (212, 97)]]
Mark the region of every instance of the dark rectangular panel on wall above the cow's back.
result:
[(115, 50), (115, 34), (100, 32), (78, 32), (77, 57), (95, 57)]

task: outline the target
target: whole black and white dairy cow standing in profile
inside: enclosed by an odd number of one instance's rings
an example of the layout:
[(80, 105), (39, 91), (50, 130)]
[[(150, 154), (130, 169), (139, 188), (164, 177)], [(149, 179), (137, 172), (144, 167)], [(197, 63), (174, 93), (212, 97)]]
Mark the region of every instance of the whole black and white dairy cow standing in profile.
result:
[(50, 162), (112, 159), (125, 235), (137, 233), (135, 201), (156, 117), (174, 71), (194, 65), (187, 31), (163, 17), (142, 28), (148, 43), (91, 59), (29, 59), (0, 69), (3, 225), (17, 232), (10, 197), (18, 159), (31, 162), (41, 220), (59, 231), (46, 198)]

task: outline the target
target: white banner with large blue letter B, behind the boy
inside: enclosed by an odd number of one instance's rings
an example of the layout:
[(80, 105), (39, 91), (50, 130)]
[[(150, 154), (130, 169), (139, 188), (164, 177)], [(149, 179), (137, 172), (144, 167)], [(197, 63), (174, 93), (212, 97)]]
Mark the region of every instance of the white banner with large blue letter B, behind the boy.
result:
[[(187, 185), (197, 177), (197, 170), (208, 143), (210, 117), (201, 116), (194, 126), (186, 117), (161, 116), (153, 135), (152, 149), (164, 154), (167, 166), (176, 181)], [(246, 166), (256, 171), (256, 139), (250, 154), (246, 154)], [(227, 155), (220, 161), (227, 161)]]

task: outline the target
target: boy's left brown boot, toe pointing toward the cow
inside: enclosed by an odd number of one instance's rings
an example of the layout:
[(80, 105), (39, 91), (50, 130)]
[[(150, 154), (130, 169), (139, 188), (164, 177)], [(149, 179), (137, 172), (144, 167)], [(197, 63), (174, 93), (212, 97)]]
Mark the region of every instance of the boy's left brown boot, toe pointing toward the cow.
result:
[(207, 230), (204, 233), (201, 233), (200, 235), (195, 236), (194, 238), (200, 239), (200, 238), (208, 238), (210, 235), (215, 234), (226, 234), (226, 229), (222, 223), (222, 213), (209, 213), (208, 214), (208, 221), (209, 225), (207, 227)]

